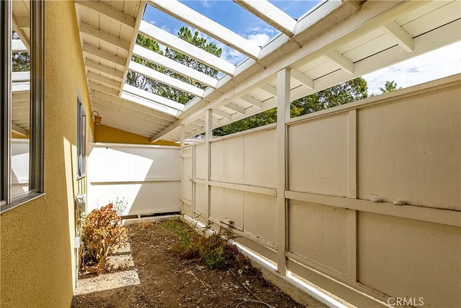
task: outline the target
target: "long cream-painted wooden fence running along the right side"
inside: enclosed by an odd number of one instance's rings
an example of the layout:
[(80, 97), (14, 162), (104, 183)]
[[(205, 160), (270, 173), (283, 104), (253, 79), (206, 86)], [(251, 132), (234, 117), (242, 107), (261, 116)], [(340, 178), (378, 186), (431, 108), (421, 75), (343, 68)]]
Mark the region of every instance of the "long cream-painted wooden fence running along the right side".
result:
[(213, 139), (209, 153), (187, 146), (183, 210), (232, 221), (245, 246), (357, 307), (389, 297), (459, 307), (460, 84), (456, 75), (289, 119), (287, 148), (275, 125)]

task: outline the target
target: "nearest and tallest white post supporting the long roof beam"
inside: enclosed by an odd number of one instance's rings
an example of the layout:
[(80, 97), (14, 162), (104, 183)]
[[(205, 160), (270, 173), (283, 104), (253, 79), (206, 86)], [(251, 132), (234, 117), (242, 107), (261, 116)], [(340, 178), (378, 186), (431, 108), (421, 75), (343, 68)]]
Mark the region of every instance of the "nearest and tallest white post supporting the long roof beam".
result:
[(288, 247), (287, 209), (285, 190), (288, 188), (287, 125), (290, 117), (290, 69), (277, 73), (277, 271), (286, 275)]

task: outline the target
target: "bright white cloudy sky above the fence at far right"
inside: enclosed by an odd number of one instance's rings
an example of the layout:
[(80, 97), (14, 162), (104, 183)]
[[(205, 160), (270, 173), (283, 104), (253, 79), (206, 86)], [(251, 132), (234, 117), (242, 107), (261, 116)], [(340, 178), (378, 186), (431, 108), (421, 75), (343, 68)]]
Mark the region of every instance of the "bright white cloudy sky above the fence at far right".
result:
[(381, 93), (386, 81), (394, 80), (399, 87), (411, 87), (461, 72), (461, 42), (433, 50), (424, 55), (391, 65), (364, 75), (368, 82), (368, 93)]

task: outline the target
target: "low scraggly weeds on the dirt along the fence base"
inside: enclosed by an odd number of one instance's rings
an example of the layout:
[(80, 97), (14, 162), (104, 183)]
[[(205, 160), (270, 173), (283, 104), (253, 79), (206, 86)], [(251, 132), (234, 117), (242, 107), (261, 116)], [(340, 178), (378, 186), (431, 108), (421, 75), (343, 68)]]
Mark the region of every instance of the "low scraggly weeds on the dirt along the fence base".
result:
[(245, 257), (232, 243), (233, 235), (220, 229), (210, 236), (198, 236), (189, 226), (177, 219), (165, 221), (163, 225), (177, 234), (179, 243), (172, 251), (179, 258), (196, 259), (210, 269), (222, 269), (235, 263), (242, 263)]

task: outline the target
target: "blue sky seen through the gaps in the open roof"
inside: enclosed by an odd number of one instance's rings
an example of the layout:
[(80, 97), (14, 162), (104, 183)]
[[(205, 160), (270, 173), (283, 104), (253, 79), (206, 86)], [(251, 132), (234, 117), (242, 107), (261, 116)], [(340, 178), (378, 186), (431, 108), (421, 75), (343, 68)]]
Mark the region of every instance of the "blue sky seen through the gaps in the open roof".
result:
[[(265, 23), (265, 21), (262, 21), (230, 0), (186, 0), (181, 2), (213, 21), (220, 23), (222, 26), (242, 35), (244, 38), (255, 42), (257, 45), (265, 45), (265, 43), (279, 33), (272, 26)], [(320, 1), (291, 0), (270, 2), (289, 16), (299, 18)], [(189, 27), (187, 24), (182, 23), (182, 21), (178, 21), (152, 6), (146, 7), (143, 19), (174, 35), (177, 35), (179, 28), (182, 26)], [(242, 55), (238, 51), (210, 38), (208, 35), (203, 33), (201, 35), (223, 49), (221, 57), (225, 60), (237, 65), (245, 59), (245, 55)]]

